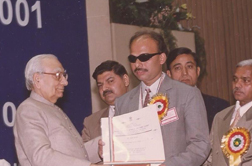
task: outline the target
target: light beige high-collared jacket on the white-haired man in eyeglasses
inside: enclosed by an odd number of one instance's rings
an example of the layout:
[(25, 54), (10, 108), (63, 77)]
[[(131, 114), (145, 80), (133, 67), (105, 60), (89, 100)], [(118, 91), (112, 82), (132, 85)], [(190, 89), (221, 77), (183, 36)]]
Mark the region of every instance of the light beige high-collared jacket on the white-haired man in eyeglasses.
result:
[(22, 166), (91, 164), (82, 138), (67, 115), (35, 92), (18, 107), (13, 130)]

